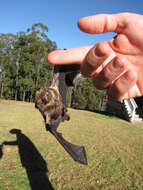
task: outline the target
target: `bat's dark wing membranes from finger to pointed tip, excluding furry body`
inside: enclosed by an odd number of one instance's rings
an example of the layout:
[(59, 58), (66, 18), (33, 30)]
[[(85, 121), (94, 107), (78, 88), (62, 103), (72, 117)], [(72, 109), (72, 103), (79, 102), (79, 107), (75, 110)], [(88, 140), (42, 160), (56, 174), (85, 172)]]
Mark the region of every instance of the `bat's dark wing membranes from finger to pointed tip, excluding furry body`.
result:
[[(81, 164), (87, 164), (86, 151), (83, 146), (74, 145), (66, 141), (62, 134), (57, 132), (57, 128), (60, 125), (61, 121), (64, 121), (66, 115), (66, 94), (69, 86), (73, 86), (73, 81), (77, 74), (80, 72), (79, 65), (56, 65), (54, 67), (54, 75), (51, 87), (58, 87), (59, 96), (61, 97), (61, 104), (63, 112), (62, 115), (59, 115), (58, 118), (53, 119), (50, 124), (46, 122), (44, 112), (42, 111), (42, 105), (35, 104), (41, 114), (45, 119), (46, 130), (48, 130), (58, 142), (63, 146), (63, 148), (70, 154), (70, 156), (77, 162)], [(46, 94), (46, 92), (45, 92)], [(60, 102), (59, 102), (60, 105)]]

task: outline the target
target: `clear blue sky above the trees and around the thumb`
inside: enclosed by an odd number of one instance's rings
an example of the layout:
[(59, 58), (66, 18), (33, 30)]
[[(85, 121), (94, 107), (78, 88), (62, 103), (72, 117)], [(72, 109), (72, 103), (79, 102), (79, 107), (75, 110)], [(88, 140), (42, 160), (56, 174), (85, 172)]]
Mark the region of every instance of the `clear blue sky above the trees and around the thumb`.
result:
[(0, 33), (26, 31), (32, 24), (42, 22), (58, 49), (94, 45), (115, 34), (85, 34), (78, 29), (78, 20), (120, 12), (143, 15), (143, 0), (0, 0)]

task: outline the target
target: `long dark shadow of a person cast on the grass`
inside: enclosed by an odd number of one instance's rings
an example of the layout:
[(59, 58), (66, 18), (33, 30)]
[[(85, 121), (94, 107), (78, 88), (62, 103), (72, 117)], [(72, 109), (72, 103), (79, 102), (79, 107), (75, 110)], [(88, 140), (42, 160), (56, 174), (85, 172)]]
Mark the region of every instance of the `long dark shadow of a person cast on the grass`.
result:
[(10, 130), (16, 134), (16, 141), (5, 141), (4, 145), (17, 145), (22, 166), (26, 169), (29, 183), (32, 190), (54, 190), (46, 173), (47, 164), (42, 155), (36, 149), (32, 141), (19, 129)]

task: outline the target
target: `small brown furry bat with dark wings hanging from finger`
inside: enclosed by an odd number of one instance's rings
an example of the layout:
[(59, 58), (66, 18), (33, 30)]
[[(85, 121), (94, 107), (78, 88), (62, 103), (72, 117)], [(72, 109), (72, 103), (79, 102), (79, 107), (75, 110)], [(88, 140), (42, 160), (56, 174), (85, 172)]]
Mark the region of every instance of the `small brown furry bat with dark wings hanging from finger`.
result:
[(66, 108), (66, 93), (68, 87), (73, 86), (73, 81), (79, 73), (79, 65), (55, 65), (51, 85), (36, 92), (35, 107), (44, 118), (46, 130), (57, 139), (75, 161), (87, 165), (85, 148), (66, 141), (62, 133), (57, 131), (61, 122), (70, 120)]

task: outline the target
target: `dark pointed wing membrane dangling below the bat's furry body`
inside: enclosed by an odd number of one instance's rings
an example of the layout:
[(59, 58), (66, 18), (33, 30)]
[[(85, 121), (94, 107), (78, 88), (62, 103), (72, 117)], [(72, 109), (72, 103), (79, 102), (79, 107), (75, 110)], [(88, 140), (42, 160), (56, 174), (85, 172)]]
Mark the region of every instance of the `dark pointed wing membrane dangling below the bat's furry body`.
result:
[(57, 131), (50, 130), (50, 132), (56, 137), (59, 143), (64, 147), (64, 149), (76, 162), (87, 165), (86, 151), (83, 146), (78, 146), (69, 143), (63, 138), (62, 134), (58, 133)]

